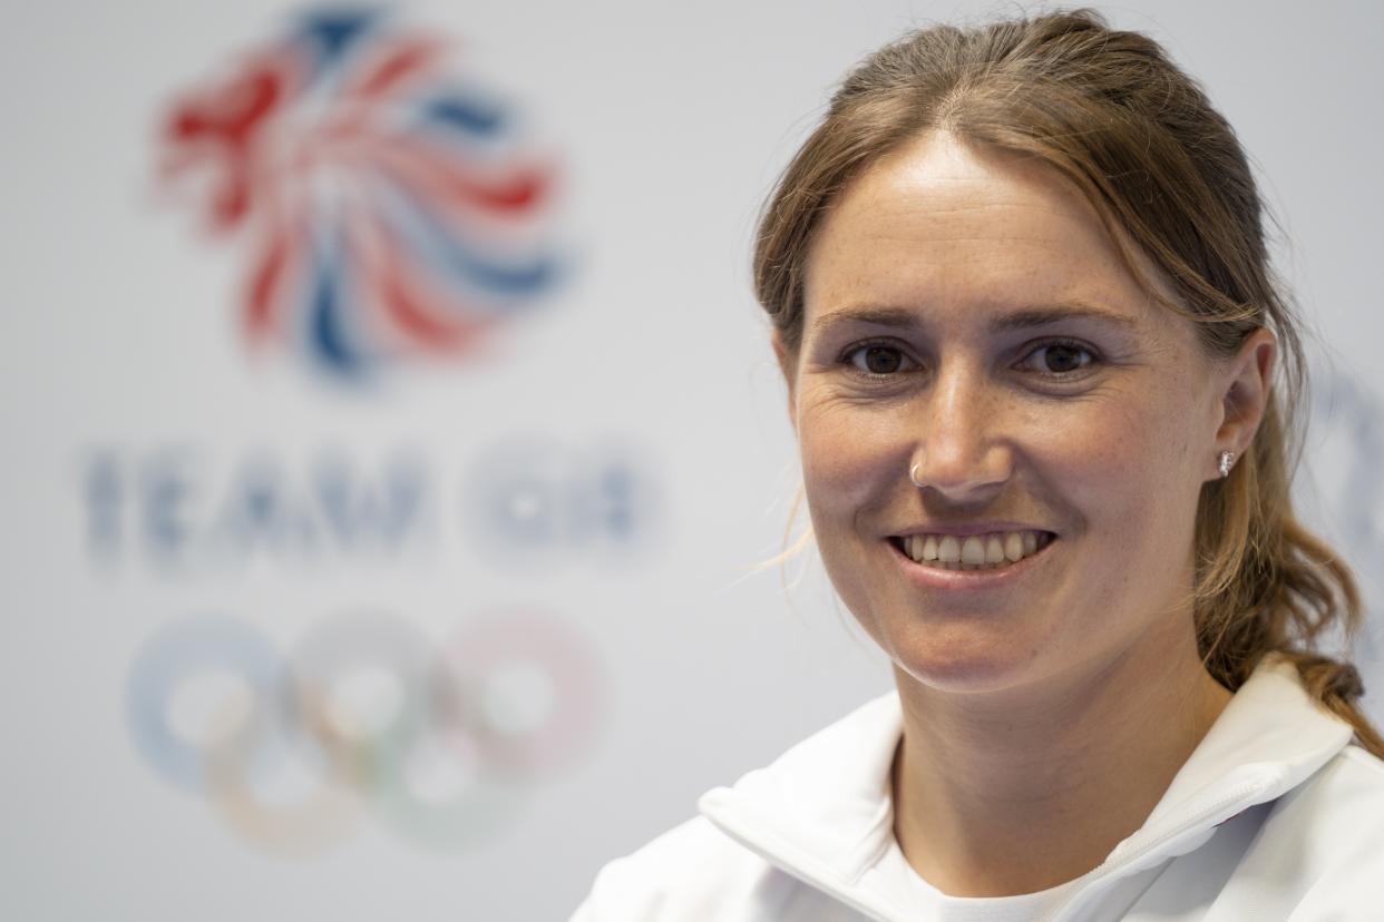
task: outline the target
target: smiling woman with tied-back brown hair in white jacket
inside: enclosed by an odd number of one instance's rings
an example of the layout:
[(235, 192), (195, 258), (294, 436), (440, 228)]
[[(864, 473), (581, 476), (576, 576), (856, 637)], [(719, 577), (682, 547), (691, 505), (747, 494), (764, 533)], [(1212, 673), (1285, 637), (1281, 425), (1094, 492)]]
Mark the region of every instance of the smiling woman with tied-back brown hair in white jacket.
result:
[(1293, 517), (1302, 355), (1235, 135), (1095, 14), (866, 59), (763, 217), (832, 582), (890, 693), (576, 919), (1363, 919), (1384, 744)]

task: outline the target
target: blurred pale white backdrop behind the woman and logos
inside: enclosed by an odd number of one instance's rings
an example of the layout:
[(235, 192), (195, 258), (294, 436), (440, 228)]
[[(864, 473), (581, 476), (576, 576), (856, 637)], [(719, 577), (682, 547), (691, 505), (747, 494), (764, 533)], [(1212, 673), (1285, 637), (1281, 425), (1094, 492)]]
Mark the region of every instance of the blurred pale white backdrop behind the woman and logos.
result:
[[(1329, 346), (1304, 503), (1384, 618), (1384, 12), (1100, 8), (1203, 80), (1261, 170), (1280, 270)], [(364, 380), (322, 370), (298, 307), (249, 344), (245, 236), (212, 239), (197, 195), (159, 182), (174, 102), (309, 10), (6, 10), (4, 918), (562, 919), (605, 861), (692, 816), (703, 791), (890, 686), (812, 561), (757, 568), (783, 547), (797, 471), (750, 294), (753, 223), (851, 64), (912, 25), (1019, 7), (390, 7), (401, 29), (455, 39), (448, 66), (555, 166), (543, 228), (567, 268), (480, 355), (403, 357)], [(439, 839), (392, 821), (379, 771), (417, 782), (425, 806), (464, 799), (469, 775), (371, 764), (342, 795), (354, 806), (303, 838), (310, 753), (302, 777), (264, 788), (256, 820), (210, 781), (180, 788), (169, 753), (141, 742), (131, 688), (152, 681), (141, 657), (169, 630), (216, 615), (286, 659), (363, 611), (428, 650), (515, 628), (484, 661), (507, 669), (487, 713), (555, 748), (466, 802), (493, 822)], [(1384, 716), (1384, 669), (1362, 652)], [(562, 675), (565, 658), (585, 672)], [(408, 693), (393, 662), (367, 664), (338, 702), (367, 730)], [(237, 701), (219, 675), (148, 715), (197, 735)], [(443, 730), (433, 742), (455, 744)]]

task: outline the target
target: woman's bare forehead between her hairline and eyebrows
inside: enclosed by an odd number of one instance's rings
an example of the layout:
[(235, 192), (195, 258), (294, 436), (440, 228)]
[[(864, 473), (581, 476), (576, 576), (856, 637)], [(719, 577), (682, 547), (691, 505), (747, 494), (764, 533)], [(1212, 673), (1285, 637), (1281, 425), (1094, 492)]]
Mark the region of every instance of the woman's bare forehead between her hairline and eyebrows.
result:
[(941, 133), (857, 177), (818, 228), (804, 282), (808, 335), (865, 305), (913, 310), (923, 323), (1084, 304), (1143, 328), (1189, 325), (1157, 305), (1055, 169)]

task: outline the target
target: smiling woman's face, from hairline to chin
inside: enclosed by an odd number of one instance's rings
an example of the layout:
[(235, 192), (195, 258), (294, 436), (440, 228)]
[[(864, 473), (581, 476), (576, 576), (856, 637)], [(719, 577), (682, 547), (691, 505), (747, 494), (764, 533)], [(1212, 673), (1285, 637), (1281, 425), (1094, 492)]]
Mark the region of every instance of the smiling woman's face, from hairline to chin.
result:
[(877, 162), (779, 355), (822, 560), (897, 668), (985, 691), (1186, 654), (1225, 364), (1055, 170), (947, 134)]

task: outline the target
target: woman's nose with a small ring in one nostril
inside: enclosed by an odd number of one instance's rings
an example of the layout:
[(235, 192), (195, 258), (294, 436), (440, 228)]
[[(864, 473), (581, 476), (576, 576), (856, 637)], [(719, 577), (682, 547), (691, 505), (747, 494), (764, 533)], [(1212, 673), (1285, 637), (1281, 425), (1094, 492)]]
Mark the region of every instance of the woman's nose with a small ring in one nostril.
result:
[(1013, 473), (1003, 394), (983, 373), (955, 365), (940, 369), (915, 399), (909, 480), (955, 503), (983, 503), (999, 493)]

